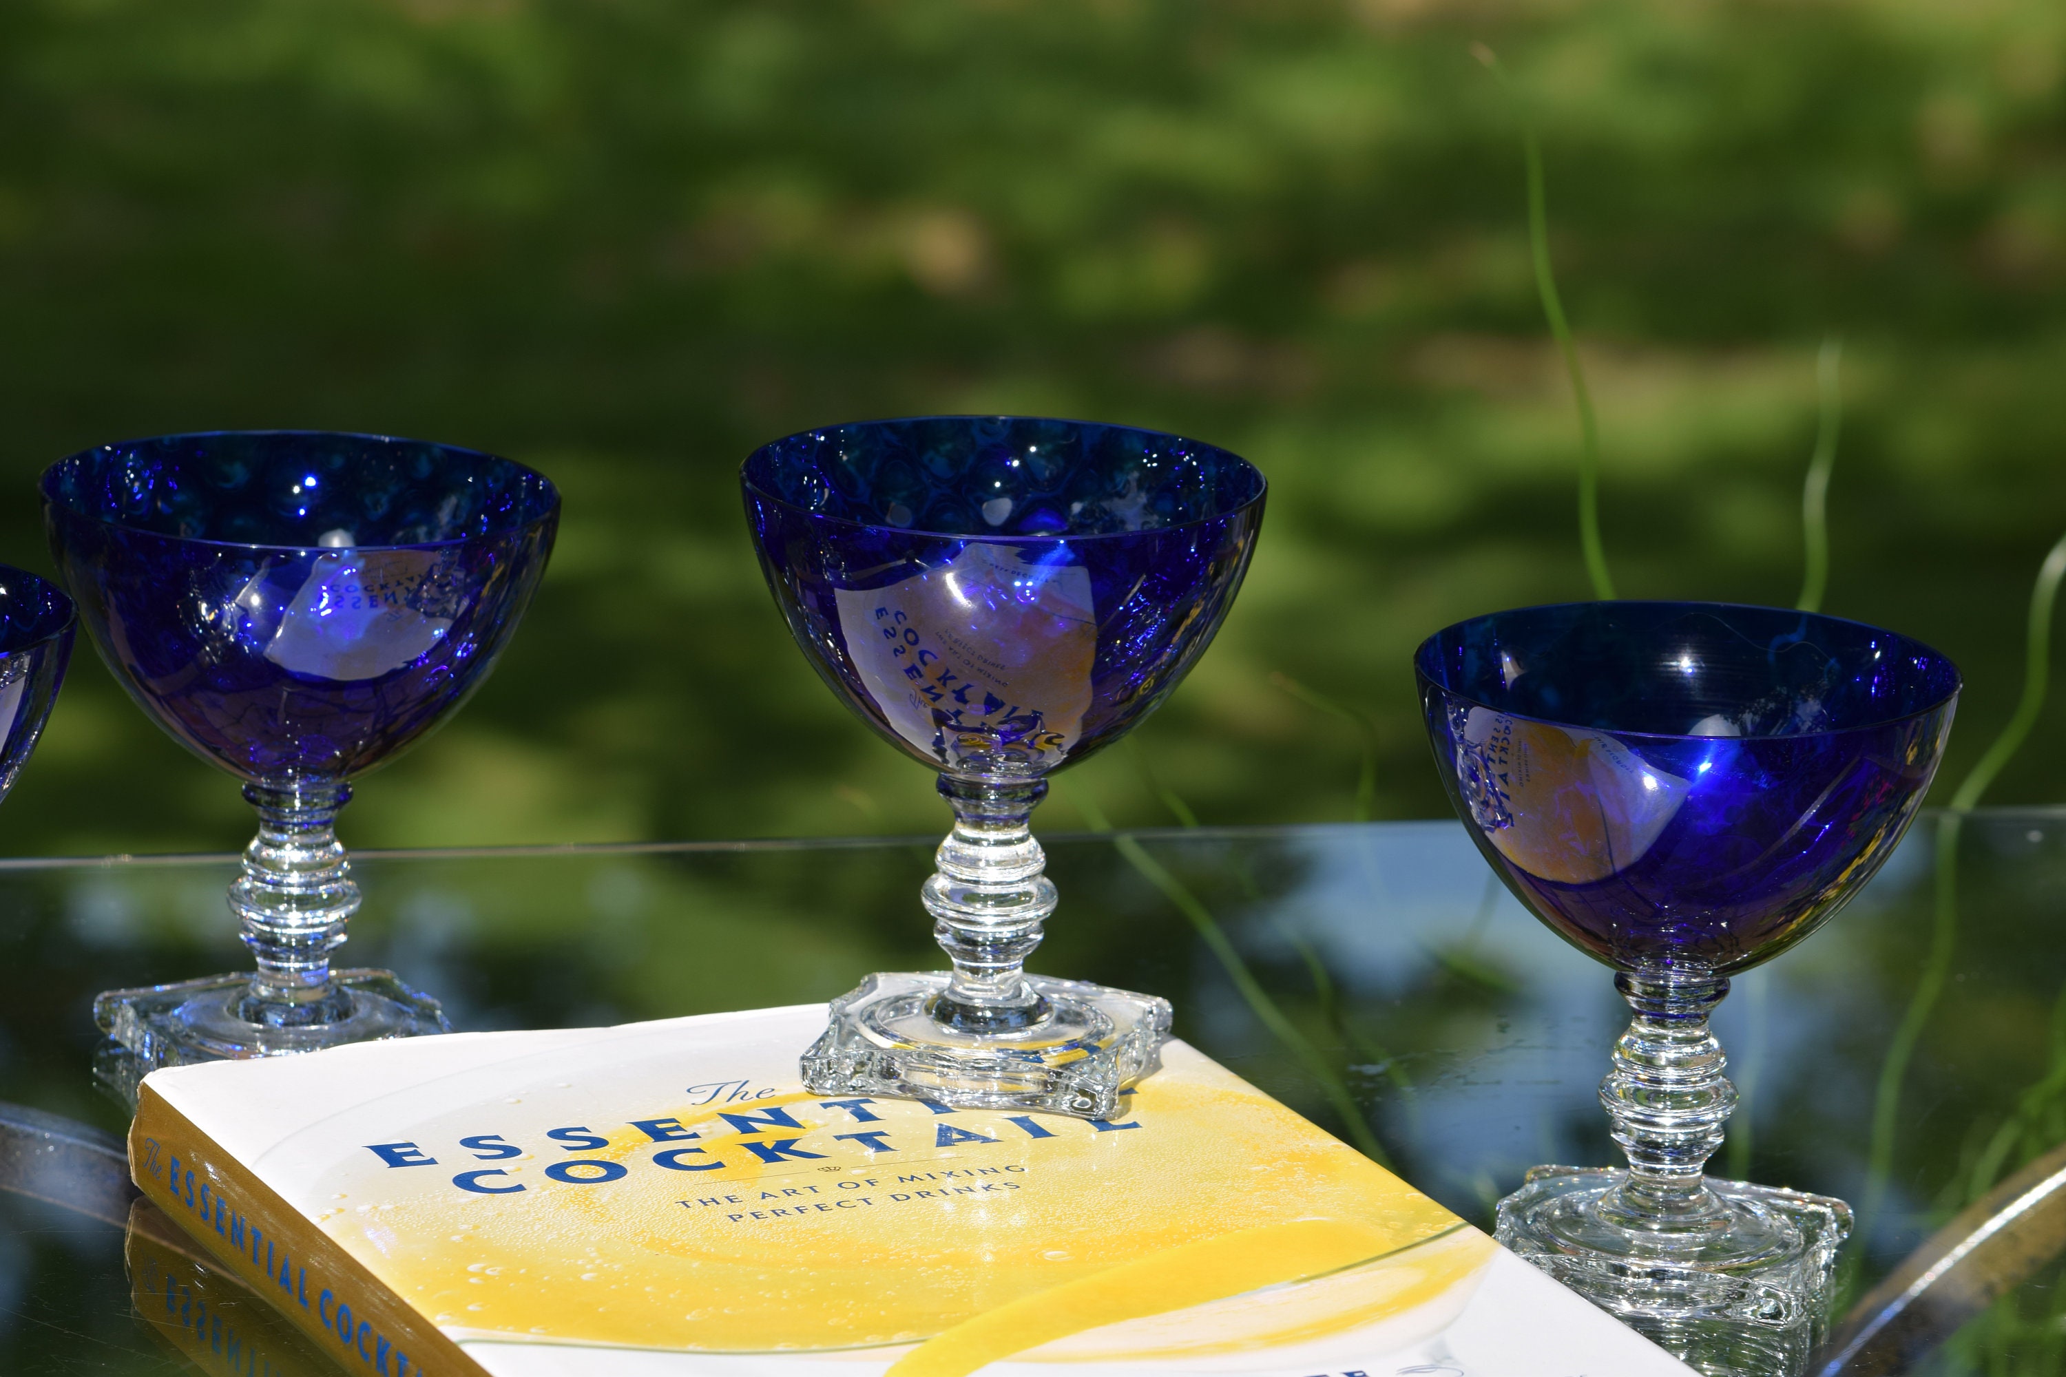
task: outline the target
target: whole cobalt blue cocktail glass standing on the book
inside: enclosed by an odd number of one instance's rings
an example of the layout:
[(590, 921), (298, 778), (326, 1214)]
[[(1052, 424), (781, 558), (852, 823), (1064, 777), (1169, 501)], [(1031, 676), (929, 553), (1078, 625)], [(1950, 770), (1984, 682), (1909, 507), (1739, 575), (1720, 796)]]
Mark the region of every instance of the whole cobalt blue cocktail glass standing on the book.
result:
[(921, 417), (777, 440), (740, 481), (795, 642), (954, 809), (921, 892), (952, 970), (874, 974), (835, 1001), (806, 1084), (1116, 1113), (1159, 1065), (1169, 1005), (1025, 974), (1056, 906), (1029, 820), (1052, 772), (1204, 652), (1256, 545), (1262, 475), (1124, 425)]

